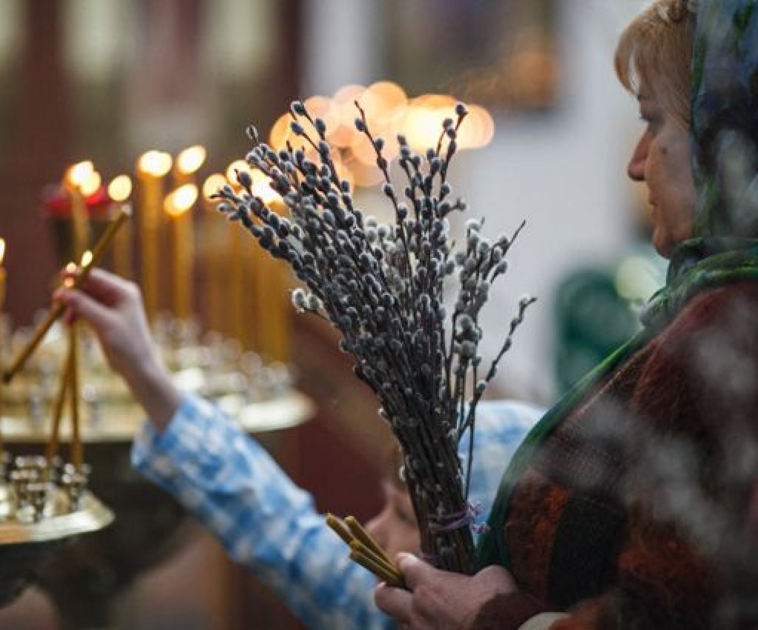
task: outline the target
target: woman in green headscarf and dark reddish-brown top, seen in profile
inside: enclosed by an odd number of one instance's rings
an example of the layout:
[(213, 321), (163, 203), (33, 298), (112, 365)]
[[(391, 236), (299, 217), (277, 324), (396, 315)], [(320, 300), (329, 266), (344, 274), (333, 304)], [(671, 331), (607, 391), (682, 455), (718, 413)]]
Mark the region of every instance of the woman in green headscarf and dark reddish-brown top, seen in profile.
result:
[(758, 626), (756, 9), (657, 0), (623, 33), (616, 68), (647, 125), (628, 174), (650, 190), (666, 287), (518, 450), (487, 568), (400, 556), (410, 591), (376, 600), (404, 628)]

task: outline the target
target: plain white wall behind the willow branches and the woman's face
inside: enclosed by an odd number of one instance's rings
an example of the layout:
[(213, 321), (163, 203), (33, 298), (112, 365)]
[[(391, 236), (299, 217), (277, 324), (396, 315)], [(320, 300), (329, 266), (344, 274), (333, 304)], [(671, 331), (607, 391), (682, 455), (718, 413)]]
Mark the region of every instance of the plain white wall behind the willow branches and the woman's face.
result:
[[(553, 388), (553, 287), (581, 262), (610, 261), (628, 243), (625, 166), (641, 129), (634, 99), (612, 67), (615, 39), (641, 2), (559, 2), (563, 89), (558, 108), (544, 116), (498, 119), (490, 146), (459, 156), (451, 173), (471, 215), (486, 217), (487, 234), (510, 233), (522, 219), (528, 221), (512, 250), (510, 277), (493, 293), (484, 331), (493, 347), (518, 296), (540, 298), (503, 363), (499, 385), (544, 401)], [(303, 93), (328, 94), (346, 83), (391, 78), (377, 74), (379, 55), (366, 54), (376, 52), (371, 46), (379, 39), (374, 2), (309, 0), (306, 7)]]

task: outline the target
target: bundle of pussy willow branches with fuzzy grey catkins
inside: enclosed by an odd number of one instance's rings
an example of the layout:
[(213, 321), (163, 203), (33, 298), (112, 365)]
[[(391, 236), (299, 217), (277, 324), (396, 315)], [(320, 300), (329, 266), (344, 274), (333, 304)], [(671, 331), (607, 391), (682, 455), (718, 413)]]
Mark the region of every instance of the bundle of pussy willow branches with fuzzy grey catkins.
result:
[[(221, 210), (289, 263), (307, 287), (293, 291), (296, 308), (327, 318), (340, 331), (341, 349), (355, 358), (356, 375), (377, 394), (380, 414), (402, 447), (402, 476), (422, 553), (442, 569), (471, 573), (474, 508), (467, 495), (476, 407), (533, 299), (519, 302), (487, 371), (478, 352), (478, 320), (491, 284), (506, 273), (506, 254), (521, 227), (491, 241), (481, 234), (483, 221), (470, 220), (464, 246), (454, 250), (448, 215), (466, 205), (452, 199), (446, 177), (465, 105), (456, 106), (456, 119), (444, 121), (436, 148), (424, 156), (398, 136), (403, 190), (390, 180), (384, 140), (372, 135), (365, 112), (358, 103), (356, 108), (356, 128), (374, 146), (384, 174), (392, 224), (356, 208), (349, 183), (337, 174), (326, 124), (302, 102), (290, 109), (301, 146), (290, 142), (277, 151), (258, 139), (255, 128), (248, 130), (255, 146), (246, 160), (271, 179), (290, 216), (268, 208), (244, 171), (236, 175), (239, 190), (224, 186), (218, 193)], [(457, 294), (448, 309), (450, 284)], [(457, 454), (462, 439), (469, 440), (465, 471)]]

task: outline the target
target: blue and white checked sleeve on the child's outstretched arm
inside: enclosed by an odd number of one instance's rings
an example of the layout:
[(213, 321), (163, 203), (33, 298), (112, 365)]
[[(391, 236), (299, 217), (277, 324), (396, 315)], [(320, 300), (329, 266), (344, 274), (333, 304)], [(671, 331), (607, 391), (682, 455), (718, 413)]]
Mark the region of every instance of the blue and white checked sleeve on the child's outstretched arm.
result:
[(393, 627), (310, 494), (216, 406), (185, 396), (163, 434), (146, 422), (132, 459), (309, 628)]

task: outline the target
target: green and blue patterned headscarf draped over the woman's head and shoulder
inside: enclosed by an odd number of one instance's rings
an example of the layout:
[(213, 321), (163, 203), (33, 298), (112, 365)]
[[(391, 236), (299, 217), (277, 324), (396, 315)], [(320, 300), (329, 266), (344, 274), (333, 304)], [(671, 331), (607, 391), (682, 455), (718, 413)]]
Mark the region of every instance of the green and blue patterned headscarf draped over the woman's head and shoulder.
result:
[(478, 565), (509, 567), (503, 525), (534, 451), (605, 380), (710, 287), (758, 280), (758, 0), (700, 0), (693, 59), (691, 144), (694, 234), (673, 252), (666, 286), (641, 315), (644, 329), (612, 353), (537, 423), (503, 475)]

